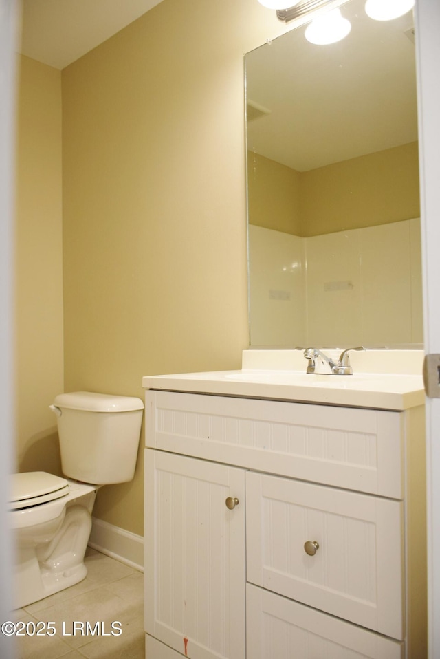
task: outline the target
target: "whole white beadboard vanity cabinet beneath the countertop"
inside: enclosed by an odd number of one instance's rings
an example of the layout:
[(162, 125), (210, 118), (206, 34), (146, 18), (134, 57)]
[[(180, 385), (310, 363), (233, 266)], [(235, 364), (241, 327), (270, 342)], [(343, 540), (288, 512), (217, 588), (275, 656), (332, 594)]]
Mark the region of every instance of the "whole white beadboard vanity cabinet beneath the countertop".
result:
[(147, 658), (425, 657), (423, 464), (421, 407), (146, 391)]

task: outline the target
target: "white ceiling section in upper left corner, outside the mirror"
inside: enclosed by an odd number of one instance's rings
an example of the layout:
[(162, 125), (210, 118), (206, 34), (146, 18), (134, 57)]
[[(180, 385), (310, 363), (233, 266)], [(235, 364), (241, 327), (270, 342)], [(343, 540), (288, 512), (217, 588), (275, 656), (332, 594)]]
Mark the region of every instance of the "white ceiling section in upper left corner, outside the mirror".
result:
[(162, 0), (22, 0), (21, 48), (63, 69)]

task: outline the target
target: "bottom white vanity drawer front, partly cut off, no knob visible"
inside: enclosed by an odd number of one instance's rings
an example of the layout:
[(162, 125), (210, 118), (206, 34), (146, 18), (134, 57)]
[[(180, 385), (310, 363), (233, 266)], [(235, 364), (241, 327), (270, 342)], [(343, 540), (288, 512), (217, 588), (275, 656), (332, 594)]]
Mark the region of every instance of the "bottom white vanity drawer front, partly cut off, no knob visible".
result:
[(404, 644), (248, 584), (250, 659), (403, 659)]

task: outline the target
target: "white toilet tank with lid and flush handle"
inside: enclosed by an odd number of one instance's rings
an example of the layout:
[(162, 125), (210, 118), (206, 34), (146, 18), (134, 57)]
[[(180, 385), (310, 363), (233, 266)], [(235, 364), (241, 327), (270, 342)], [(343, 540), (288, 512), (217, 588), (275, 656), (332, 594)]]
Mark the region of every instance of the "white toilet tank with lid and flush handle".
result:
[(76, 391), (56, 396), (63, 474), (94, 485), (131, 481), (144, 404), (131, 396)]

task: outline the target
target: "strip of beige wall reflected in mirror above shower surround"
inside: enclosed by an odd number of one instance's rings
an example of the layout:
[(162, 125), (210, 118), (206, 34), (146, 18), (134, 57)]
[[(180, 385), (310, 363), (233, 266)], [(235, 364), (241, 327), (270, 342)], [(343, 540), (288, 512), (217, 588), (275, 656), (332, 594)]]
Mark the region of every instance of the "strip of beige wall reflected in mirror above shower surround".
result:
[(248, 153), (251, 224), (298, 236), (419, 217), (417, 142), (297, 172)]

